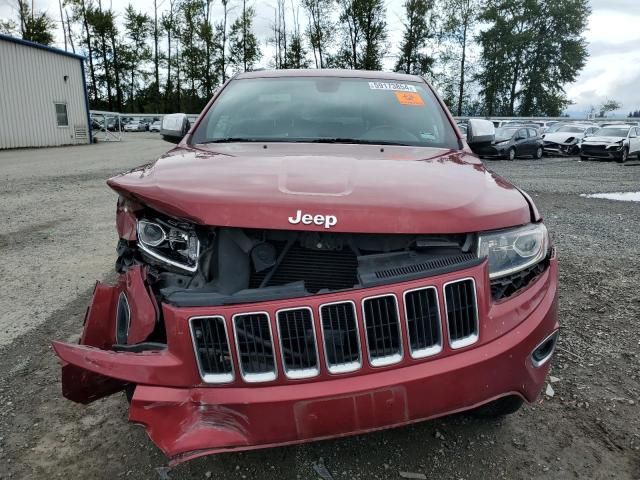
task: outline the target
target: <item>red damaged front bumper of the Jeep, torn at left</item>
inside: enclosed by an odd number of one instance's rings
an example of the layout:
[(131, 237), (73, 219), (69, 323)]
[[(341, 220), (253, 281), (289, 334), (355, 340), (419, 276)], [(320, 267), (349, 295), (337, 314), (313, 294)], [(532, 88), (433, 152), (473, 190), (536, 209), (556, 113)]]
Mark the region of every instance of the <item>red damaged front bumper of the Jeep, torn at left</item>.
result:
[[(402, 360), (375, 367), (363, 355), (361, 368), (331, 374), (322, 365), (314, 378), (277, 378), (249, 384), (235, 378), (226, 385), (205, 384), (200, 376), (189, 329), (194, 316), (217, 315), (228, 322), (237, 312), (267, 312), (277, 331), (275, 312), (304, 305), (318, 312), (321, 305), (350, 299), (359, 305), (367, 297), (473, 278), (477, 288), (479, 340), (453, 349), (444, 342), (438, 354), (412, 358), (406, 335)], [(115, 286), (98, 284), (79, 345), (54, 342), (63, 362), (66, 397), (88, 403), (135, 386), (129, 420), (145, 427), (151, 440), (172, 464), (233, 450), (287, 445), (368, 432), (468, 410), (499, 397), (517, 395), (532, 402), (539, 395), (549, 363), (534, 365), (531, 355), (539, 343), (558, 329), (557, 266), (552, 258), (540, 277), (517, 295), (490, 300), (486, 262), (436, 277), (311, 297), (222, 307), (154, 305), (144, 287), (144, 272), (131, 269)], [(132, 292), (135, 289), (135, 294)], [(161, 308), (166, 345), (148, 344), (142, 351), (117, 351), (115, 309), (121, 293), (128, 295), (131, 332), (142, 342), (154, 328), (154, 309)], [(402, 300), (401, 300), (402, 302)], [(441, 311), (446, 305), (439, 299)], [(401, 313), (403, 309), (400, 310)], [(317, 314), (315, 328), (322, 328)], [(358, 322), (361, 322), (360, 311)], [(401, 319), (402, 320), (402, 319)], [(366, 345), (360, 325), (361, 345)], [(142, 345), (145, 345), (144, 343)], [(278, 342), (275, 358), (283, 372)], [(237, 352), (232, 345), (233, 362)], [(322, 342), (319, 357), (324, 359)]]

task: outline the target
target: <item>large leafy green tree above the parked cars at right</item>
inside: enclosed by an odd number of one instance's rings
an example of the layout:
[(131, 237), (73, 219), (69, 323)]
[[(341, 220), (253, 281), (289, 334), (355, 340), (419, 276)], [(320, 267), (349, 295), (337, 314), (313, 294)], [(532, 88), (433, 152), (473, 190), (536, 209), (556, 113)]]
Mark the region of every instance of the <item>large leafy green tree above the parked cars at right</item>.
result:
[(584, 66), (587, 0), (488, 0), (480, 16), (486, 113), (558, 116)]

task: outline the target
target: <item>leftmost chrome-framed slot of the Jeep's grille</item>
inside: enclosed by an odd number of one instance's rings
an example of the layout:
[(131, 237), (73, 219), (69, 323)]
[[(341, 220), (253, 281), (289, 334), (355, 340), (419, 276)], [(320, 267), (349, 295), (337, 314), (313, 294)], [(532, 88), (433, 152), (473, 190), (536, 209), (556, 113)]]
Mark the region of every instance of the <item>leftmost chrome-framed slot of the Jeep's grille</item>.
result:
[(189, 328), (202, 380), (206, 383), (233, 381), (233, 362), (224, 318), (192, 317)]

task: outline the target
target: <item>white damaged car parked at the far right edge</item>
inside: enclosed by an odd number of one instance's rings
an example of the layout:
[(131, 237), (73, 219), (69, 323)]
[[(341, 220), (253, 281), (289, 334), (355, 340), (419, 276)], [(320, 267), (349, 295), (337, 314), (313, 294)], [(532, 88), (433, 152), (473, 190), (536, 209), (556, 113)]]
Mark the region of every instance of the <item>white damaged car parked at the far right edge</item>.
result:
[(624, 163), (636, 155), (640, 159), (640, 127), (614, 125), (599, 129), (586, 138), (580, 148), (580, 158), (606, 158)]

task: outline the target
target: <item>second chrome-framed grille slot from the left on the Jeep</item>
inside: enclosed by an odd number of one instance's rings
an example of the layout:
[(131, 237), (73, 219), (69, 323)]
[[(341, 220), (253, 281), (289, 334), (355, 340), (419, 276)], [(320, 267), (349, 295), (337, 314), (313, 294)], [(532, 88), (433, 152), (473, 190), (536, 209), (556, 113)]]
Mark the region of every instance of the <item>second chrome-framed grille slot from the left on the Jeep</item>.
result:
[(247, 382), (267, 382), (276, 378), (271, 323), (266, 313), (233, 316), (240, 373)]

